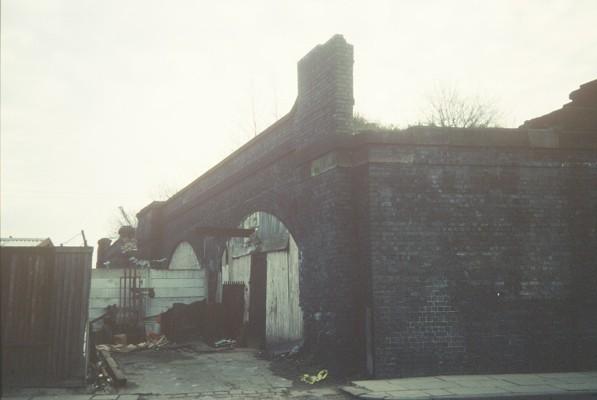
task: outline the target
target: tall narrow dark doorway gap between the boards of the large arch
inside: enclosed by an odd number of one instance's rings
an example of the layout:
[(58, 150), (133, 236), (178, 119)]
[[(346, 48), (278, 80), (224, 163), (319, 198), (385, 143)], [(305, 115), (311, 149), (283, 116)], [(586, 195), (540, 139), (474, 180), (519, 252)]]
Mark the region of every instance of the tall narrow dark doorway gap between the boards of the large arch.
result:
[(265, 287), (267, 283), (267, 259), (265, 253), (251, 256), (249, 281), (249, 337), (251, 347), (265, 347)]

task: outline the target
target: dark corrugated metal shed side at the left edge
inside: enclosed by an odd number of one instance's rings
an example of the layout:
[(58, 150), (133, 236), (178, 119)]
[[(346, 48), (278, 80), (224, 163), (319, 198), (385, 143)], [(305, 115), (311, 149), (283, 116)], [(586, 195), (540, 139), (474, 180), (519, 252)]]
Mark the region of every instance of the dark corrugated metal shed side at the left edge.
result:
[(2, 247), (2, 387), (84, 386), (91, 247)]

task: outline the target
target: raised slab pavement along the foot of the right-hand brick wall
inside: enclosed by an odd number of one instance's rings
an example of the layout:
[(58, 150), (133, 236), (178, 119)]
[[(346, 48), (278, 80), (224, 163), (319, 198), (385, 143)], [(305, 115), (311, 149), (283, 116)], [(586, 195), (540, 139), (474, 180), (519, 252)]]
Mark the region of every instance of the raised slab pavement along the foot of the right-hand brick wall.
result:
[(342, 390), (360, 399), (597, 399), (597, 371), (433, 376), (351, 383)]

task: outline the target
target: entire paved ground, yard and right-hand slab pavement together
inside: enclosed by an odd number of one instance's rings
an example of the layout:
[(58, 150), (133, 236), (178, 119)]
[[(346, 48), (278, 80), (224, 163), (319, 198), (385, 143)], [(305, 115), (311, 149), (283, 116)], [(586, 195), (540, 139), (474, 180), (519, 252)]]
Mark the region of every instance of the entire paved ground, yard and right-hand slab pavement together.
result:
[[(597, 371), (552, 374), (435, 376), (353, 381), (336, 388), (324, 381), (296, 384), (278, 376), (256, 351), (205, 351), (188, 343), (160, 351), (115, 353), (128, 378), (110, 393), (43, 389), (22, 390), (7, 400), (188, 400), (188, 399), (592, 399), (597, 400)], [(298, 375), (298, 374), (297, 374)], [(290, 378), (290, 379), (289, 379)], [(298, 376), (295, 378), (298, 379)]]

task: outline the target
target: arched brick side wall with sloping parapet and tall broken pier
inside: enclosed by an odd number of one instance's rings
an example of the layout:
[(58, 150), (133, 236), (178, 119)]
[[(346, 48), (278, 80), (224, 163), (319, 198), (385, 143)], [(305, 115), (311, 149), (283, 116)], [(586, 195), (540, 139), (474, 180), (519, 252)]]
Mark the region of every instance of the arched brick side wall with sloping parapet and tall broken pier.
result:
[(299, 62), (298, 79), (288, 115), (164, 204), (139, 213), (139, 247), (161, 258), (179, 242), (191, 243), (211, 272), (211, 297), (224, 241), (199, 237), (194, 229), (236, 227), (255, 211), (275, 215), (300, 251), (307, 347), (331, 367), (354, 365), (346, 362), (355, 354), (354, 257), (347, 251), (354, 248), (352, 178), (345, 168), (311, 174), (317, 143), (351, 133), (352, 46), (341, 36), (317, 46)]

